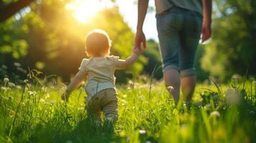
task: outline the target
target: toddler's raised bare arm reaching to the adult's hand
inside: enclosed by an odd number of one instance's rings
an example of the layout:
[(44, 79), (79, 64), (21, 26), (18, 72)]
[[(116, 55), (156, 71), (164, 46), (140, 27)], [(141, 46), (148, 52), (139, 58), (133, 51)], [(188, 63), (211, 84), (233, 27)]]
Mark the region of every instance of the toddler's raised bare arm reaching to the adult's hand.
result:
[(129, 56), (127, 59), (123, 60), (123, 59), (119, 59), (116, 65), (117, 69), (125, 69), (128, 66), (131, 66), (131, 64), (133, 64), (137, 59), (138, 56), (141, 51), (138, 48), (134, 48), (133, 49), (133, 54), (131, 54), (131, 56)]

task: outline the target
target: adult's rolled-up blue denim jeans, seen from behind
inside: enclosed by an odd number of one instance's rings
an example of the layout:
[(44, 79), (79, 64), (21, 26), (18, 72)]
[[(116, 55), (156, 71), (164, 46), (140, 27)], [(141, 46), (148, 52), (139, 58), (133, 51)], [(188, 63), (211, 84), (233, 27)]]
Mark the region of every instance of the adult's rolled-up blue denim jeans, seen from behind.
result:
[(156, 15), (163, 72), (180, 71), (181, 77), (195, 74), (194, 58), (202, 31), (202, 15), (196, 11), (171, 8)]

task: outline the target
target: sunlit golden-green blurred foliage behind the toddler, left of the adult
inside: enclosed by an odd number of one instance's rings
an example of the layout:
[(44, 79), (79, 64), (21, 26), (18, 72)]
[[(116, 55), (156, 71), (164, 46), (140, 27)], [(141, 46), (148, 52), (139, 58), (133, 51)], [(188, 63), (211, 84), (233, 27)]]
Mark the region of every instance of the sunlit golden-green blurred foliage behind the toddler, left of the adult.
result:
[[(120, 16), (118, 8), (99, 11), (84, 24), (65, 9), (69, 1), (45, 0), (32, 3), (19, 19), (12, 17), (0, 24), (1, 64), (13, 71), (15, 57), (27, 69), (39, 68), (47, 74), (58, 74), (65, 81), (77, 72), (85, 54), (85, 36), (92, 29), (103, 29), (113, 41), (111, 54), (127, 58), (133, 49), (134, 34)], [(16, 17), (16, 16), (15, 16)], [(4, 32), (2, 32), (4, 31)], [(9, 53), (12, 56), (10, 56)], [(3, 54), (3, 55), (2, 55)], [(118, 82), (141, 73), (146, 59), (141, 56), (127, 70), (118, 71)]]

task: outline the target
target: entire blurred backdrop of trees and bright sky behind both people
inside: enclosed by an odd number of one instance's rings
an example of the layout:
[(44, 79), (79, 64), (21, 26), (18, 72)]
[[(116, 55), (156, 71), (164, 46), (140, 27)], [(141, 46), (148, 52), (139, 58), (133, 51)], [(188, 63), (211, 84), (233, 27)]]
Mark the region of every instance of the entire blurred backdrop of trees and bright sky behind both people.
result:
[[(86, 58), (85, 36), (103, 29), (113, 41), (111, 54), (131, 54), (137, 0), (0, 0), (0, 80), (25, 79), (31, 69), (67, 82)], [(200, 44), (196, 74), (204, 82), (226, 82), (233, 74), (255, 76), (256, 1), (214, 0), (212, 39)], [(144, 25), (147, 49), (129, 69), (117, 71), (118, 83), (138, 75), (162, 78), (154, 1)]]

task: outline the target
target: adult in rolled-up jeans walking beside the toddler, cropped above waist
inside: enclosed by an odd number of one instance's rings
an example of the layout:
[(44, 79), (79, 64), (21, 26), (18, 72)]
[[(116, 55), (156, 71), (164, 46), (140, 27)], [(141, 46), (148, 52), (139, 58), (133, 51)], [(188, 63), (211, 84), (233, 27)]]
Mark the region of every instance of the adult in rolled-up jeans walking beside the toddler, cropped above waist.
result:
[[(179, 102), (181, 87), (184, 102), (194, 94), (196, 76), (194, 57), (202, 42), (211, 36), (212, 0), (155, 0), (156, 23), (163, 62), (163, 79), (174, 102)], [(138, 0), (135, 46), (146, 48), (143, 21), (148, 0)], [(143, 46), (143, 47), (142, 47)]]

